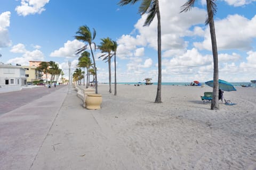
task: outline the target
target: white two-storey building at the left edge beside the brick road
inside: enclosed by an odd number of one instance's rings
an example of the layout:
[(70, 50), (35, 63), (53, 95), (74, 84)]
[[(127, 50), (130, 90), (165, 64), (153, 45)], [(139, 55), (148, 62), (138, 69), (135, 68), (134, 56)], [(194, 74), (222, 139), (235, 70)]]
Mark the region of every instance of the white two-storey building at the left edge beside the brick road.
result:
[(21, 86), (27, 84), (27, 77), (25, 74), (25, 69), (21, 66), (14, 66), (10, 64), (4, 64), (0, 62), (0, 90), (21, 89)]

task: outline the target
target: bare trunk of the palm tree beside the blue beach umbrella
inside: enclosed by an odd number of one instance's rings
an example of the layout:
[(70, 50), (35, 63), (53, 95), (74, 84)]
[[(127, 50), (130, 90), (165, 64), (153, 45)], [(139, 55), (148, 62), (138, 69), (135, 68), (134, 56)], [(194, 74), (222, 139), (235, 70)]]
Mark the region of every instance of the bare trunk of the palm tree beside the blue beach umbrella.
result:
[[(215, 26), (213, 20), (213, 11), (210, 7), (210, 0), (207, 0), (207, 12), (208, 17), (210, 18), (209, 27), (211, 33), (211, 42), (212, 42), (212, 55), (213, 55), (213, 91), (212, 91), (212, 102), (211, 109), (219, 109), (219, 66), (218, 66), (218, 49), (217, 49), (217, 40), (215, 35)], [(212, 17), (211, 17), (212, 16)]]

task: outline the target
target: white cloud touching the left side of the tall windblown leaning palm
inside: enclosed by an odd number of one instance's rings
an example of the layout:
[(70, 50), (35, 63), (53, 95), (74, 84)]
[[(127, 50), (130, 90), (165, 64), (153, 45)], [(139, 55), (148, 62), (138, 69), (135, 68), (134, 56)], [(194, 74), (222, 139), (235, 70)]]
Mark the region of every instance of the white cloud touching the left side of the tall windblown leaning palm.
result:
[(51, 57), (77, 57), (76, 50), (82, 48), (85, 44), (78, 40), (70, 41), (64, 44), (64, 47), (54, 50), (50, 54)]

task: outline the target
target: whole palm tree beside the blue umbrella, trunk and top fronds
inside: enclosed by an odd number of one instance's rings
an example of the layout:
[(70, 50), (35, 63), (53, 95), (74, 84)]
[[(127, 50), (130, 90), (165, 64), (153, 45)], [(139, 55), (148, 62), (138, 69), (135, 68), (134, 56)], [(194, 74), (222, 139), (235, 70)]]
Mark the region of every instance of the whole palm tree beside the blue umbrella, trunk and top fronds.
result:
[[(215, 35), (215, 26), (213, 15), (217, 12), (216, 0), (206, 0), (208, 17), (205, 24), (209, 24), (211, 43), (212, 43), (212, 55), (213, 55), (213, 91), (211, 109), (219, 109), (219, 66), (218, 66), (218, 49), (217, 40)], [(181, 6), (181, 12), (187, 12), (194, 6), (195, 0), (189, 0), (187, 3)]]

